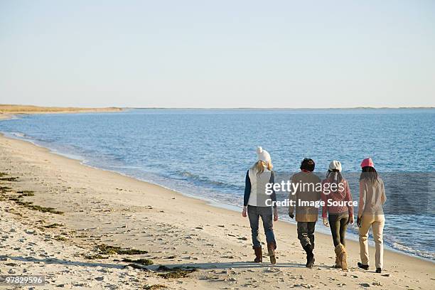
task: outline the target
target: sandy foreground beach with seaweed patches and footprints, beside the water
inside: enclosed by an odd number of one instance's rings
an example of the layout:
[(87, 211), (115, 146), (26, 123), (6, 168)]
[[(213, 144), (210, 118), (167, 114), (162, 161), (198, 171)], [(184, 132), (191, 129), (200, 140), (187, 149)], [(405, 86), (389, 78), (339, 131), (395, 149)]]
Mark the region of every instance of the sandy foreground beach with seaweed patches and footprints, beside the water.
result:
[(1, 274), (43, 275), (43, 289), (431, 289), (434, 283), (433, 262), (397, 252), (385, 252), (382, 274), (356, 268), (353, 241), (350, 270), (333, 269), (331, 237), (320, 233), (316, 267), (307, 269), (287, 222), (274, 226), (276, 267), (254, 264), (249, 222), (240, 213), (26, 141), (0, 137), (0, 172)]

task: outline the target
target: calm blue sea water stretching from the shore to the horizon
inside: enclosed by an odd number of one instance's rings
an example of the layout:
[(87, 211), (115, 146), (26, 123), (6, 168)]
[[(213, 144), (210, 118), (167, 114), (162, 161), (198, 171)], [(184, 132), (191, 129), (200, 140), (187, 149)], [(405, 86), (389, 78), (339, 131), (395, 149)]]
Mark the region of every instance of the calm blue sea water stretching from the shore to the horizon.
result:
[[(432, 260), (434, 128), (435, 109), (130, 109), (0, 122), (9, 136), (231, 208), (242, 206), (256, 146), (269, 151), (282, 175), (298, 171), (304, 157), (316, 161), (321, 176), (331, 160), (341, 161), (354, 200), (360, 161), (370, 156), (393, 207), (386, 245)], [(421, 186), (409, 186), (414, 183)], [(328, 231), (323, 225), (317, 230)], [(350, 237), (356, 232), (350, 228)]]

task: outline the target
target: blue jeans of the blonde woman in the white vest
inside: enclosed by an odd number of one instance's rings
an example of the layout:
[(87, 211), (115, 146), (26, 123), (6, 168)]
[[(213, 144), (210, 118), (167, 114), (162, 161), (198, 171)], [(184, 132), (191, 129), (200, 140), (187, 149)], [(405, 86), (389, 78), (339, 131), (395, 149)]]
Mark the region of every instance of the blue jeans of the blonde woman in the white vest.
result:
[(272, 207), (252, 206), (247, 207), (249, 224), (252, 232), (252, 245), (260, 247), (261, 243), (258, 237), (259, 217), (262, 217), (264, 234), (267, 242), (275, 242)]

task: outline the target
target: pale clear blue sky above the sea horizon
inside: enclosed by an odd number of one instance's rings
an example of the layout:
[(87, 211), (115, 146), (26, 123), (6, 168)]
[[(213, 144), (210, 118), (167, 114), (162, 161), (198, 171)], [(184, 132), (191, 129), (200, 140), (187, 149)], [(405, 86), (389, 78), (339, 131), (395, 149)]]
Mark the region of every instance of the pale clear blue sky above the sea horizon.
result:
[(0, 0), (0, 103), (435, 107), (435, 1)]

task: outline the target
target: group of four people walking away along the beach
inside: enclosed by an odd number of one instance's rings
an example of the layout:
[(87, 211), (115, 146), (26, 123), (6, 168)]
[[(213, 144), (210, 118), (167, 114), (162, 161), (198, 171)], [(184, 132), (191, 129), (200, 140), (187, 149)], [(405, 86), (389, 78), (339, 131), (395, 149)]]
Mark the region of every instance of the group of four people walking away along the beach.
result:
[[(273, 230), (273, 221), (278, 220), (276, 193), (272, 190), (271, 194), (267, 190), (267, 188), (271, 188), (268, 184), (275, 182), (272, 159), (262, 147), (257, 148), (257, 156), (257, 162), (249, 168), (246, 174), (242, 215), (249, 217), (252, 248), (255, 252), (254, 262), (262, 262), (262, 245), (259, 240), (259, 218), (261, 217), (267, 240), (268, 255), (271, 263), (276, 264), (276, 240)], [(301, 171), (291, 176), (291, 184), (296, 186), (291, 186), (294, 191), (289, 194), (289, 200), (294, 201), (289, 206), (289, 217), (295, 218), (294, 208), (296, 207), (298, 239), (306, 252), (306, 267), (311, 268), (315, 261), (313, 254), (314, 230), (318, 220), (318, 207), (315, 204), (316, 202), (318, 204), (319, 200), (323, 201), (321, 203), (323, 225), (331, 227), (335, 250), (334, 267), (348, 269), (345, 232), (348, 225), (353, 225), (354, 222), (353, 200), (349, 184), (341, 174), (342, 168), (339, 161), (331, 161), (323, 181), (313, 173), (315, 166), (313, 159), (304, 159), (301, 162)], [(357, 218), (361, 262), (358, 262), (358, 267), (369, 268), (367, 237), (370, 227), (372, 227), (376, 248), (376, 272), (380, 273), (383, 264), (382, 232), (385, 224), (382, 205), (387, 198), (384, 182), (382, 178), (377, 176), (372, 159), (364, 159), (361, 168)], [(319, 187), (318, 184), (321, 186)], [(333, 190), (331, 190), (332, 188)]]

